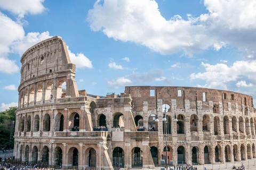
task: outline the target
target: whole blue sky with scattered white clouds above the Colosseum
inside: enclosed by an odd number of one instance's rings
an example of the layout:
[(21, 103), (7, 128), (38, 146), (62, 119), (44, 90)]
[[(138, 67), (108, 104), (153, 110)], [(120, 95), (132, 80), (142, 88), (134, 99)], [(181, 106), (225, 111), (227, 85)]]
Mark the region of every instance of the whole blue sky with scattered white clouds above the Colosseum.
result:
[[(15, 4), (15, 5), (14, 5)], [(256, 1), (0, 1), (0, 111), (18, 103), (20, 57), (61, 36), (78, 89), (188, 86), (256, 97)]]

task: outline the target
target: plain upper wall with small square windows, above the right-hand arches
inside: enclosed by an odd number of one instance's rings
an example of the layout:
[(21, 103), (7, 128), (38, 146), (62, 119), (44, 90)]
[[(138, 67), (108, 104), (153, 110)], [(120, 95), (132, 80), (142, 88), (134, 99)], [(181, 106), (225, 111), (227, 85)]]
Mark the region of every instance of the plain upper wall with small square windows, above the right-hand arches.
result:
[(238, 112), (244, 112), (243, 107), (245, 107), (253, 112), (252, 96), (233, 91), (191, 87), (129, 86), (125, 87), (125, 94), (131, 95), (133, 109), (137, 112), (143, 111), (144, 101), (147, 101), (149, 110), (155, 109), (156, 96), (157, 99), (162, 99), (162, 104), (170, 106), (172, 105), (172, 99), (176, 100), (178, 109), (185, 108), (186, 100), (189, 100), (190, 109), (197, 109), (197, 101), (200, 101), (200, 103), (202, 101), (202, 107), (209, 107), (209, 101), (212, 101), (216, 107), (221, 104), (224, 111), (229, 111), (230, 108), (231, 110), (238, 108)]

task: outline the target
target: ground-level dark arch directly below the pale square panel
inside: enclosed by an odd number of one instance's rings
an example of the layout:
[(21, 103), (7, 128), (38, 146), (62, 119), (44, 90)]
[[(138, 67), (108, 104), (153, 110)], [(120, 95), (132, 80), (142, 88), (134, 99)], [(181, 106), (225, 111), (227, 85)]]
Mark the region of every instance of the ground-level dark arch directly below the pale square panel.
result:
[(124, 168), (124, 150), (120, 147), (113, 150), (113, 167)]

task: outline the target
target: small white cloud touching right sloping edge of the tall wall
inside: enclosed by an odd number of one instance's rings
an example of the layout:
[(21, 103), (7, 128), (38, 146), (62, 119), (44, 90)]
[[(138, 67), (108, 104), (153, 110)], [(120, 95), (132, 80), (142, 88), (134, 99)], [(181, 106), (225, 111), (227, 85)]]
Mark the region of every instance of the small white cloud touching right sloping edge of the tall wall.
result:
[(87, 58), (83, 53), (74, 54), (71, 50), (68, 49), (68, 54), (71, 60), (71, 63), (76, 64), (77, 68), (87, 67), (92, 69), (92, 62)]

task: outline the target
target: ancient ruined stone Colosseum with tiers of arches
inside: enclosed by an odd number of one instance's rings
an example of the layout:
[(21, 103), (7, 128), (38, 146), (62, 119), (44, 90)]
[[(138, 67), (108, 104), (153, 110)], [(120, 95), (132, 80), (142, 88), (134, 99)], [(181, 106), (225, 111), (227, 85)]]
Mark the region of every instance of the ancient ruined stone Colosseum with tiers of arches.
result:
[[(21, 57), (14, 156), (78, 169), (155, 168), (255, 158), (252, 96), (193, 87), (78, 90), (76, 66), (56, 36)], [(167, 155), (167, 156), (166, 156)]]

